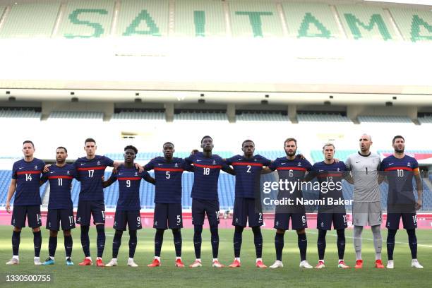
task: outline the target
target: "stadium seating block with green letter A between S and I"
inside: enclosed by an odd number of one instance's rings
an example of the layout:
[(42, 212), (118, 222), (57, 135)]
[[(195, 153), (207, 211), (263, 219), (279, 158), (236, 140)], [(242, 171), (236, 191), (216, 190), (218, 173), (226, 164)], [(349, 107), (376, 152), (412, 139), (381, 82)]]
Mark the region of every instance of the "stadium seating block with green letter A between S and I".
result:
[(121, 1), (117, 36), (168, 36), (169, 1)]

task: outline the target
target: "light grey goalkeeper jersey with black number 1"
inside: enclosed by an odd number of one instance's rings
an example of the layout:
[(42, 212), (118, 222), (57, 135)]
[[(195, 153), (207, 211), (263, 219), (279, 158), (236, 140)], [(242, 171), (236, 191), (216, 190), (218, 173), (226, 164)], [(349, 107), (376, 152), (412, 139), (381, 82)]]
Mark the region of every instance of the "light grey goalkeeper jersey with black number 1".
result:
[(376, 153), (368, 156), (359, 152), (349, 155), (347, 169), (351, 171), (354, 179), (354, 202), (378, 202), (381, 200), (380, 186), (378, 185), (378, 170), (380, 157)]

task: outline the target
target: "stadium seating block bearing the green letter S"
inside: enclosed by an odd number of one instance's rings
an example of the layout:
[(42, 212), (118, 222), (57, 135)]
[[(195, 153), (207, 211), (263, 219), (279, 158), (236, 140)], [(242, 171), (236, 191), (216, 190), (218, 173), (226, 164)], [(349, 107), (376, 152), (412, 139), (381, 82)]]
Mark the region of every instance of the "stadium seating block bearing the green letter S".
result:
[(56, 36), (68, 39), (107, 37), (113, 12), (114, 1), (70, 1)]

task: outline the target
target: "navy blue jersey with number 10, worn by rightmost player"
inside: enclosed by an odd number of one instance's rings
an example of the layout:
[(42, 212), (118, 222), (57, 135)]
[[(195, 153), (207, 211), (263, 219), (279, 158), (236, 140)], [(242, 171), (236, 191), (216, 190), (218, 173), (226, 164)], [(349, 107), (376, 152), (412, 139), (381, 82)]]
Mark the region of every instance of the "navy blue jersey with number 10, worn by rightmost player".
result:
[(405, 155), (398, 159), (393, 155), (384, 158), (380, 170), (384, 172), (388, 180), (388, 200), (392, 204), (412, 204), (414, 198), (414, 185), (412, 179), (414, 169), (419, 168), (415, 158)]

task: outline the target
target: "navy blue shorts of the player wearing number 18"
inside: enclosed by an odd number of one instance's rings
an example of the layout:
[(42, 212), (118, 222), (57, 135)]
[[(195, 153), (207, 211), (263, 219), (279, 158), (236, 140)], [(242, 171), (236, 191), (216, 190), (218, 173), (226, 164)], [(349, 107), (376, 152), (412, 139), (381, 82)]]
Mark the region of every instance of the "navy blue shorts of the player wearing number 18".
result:
[(217, 226), (219, 224), (219, 201), (193, 198), (192, 224), (203, 225), (205, 214), (207, 214), (208, 224)]

